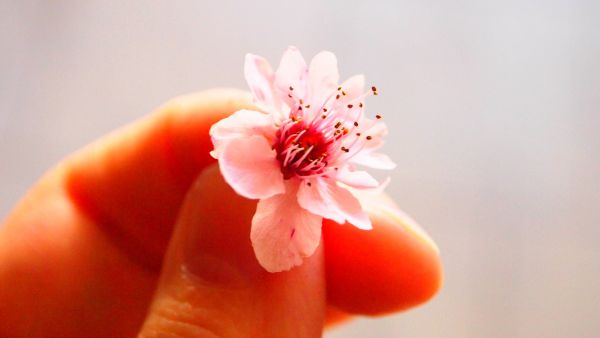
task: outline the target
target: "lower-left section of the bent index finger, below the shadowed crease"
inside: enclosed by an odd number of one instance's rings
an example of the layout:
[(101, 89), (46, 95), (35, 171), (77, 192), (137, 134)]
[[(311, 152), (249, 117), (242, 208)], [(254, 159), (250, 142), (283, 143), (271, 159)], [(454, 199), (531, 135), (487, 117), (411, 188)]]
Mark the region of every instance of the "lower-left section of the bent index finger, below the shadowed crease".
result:
[(59, 166), (0, 225), (0, 337), (122, 337), (156, 276), (70, 201)]

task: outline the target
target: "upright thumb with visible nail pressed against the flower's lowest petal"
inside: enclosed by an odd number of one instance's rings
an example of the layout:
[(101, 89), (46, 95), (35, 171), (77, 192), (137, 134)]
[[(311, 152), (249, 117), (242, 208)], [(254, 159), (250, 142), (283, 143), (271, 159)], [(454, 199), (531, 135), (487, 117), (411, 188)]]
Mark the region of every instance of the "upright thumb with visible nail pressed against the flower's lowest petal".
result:
[(268, 273), (250, 243), (256, 201), (236, 195), (213, 165), (180, 210), (140, 337), (320, 337), (323, 251)]

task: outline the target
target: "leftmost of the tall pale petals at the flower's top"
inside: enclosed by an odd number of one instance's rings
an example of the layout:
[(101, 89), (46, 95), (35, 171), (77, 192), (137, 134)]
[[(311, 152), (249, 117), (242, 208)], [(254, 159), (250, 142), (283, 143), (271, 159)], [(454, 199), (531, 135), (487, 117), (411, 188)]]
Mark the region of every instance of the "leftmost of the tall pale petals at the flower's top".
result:
[(267, 60), (258, 55), (246, 54), (244, 75), (257, 106), (273, 113), (281, 110), (281, 100), (273, 91), (275, 75)]

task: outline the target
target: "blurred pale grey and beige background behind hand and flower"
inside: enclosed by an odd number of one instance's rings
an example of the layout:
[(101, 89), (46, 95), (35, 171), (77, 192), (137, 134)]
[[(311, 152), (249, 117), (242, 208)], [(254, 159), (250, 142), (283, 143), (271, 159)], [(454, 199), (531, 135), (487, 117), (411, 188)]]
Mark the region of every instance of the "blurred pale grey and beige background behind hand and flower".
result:
[(70, 152), (290, 44), (377, 84), (388, 191), (445, 266), (430, 303), (326, 337), (600, 335), (598, 1), (0, 0), (0, 218)]

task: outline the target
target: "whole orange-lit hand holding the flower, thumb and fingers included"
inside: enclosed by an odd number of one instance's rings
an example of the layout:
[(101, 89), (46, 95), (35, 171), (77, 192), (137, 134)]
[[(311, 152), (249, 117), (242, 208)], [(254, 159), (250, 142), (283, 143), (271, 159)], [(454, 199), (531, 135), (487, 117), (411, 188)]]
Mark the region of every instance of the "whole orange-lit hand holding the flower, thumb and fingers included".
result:
[(324, 221), (302, 266), (264, 271), (256, 201), (208, 155), (242, 108), (235, 90), (176, 98), (49, 170), (0, 226), (0, 337), (319, 337), (437, 292), (437, 249), (385, 197), (372, 231)]

